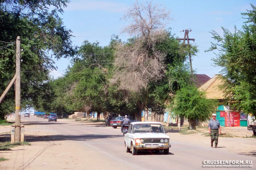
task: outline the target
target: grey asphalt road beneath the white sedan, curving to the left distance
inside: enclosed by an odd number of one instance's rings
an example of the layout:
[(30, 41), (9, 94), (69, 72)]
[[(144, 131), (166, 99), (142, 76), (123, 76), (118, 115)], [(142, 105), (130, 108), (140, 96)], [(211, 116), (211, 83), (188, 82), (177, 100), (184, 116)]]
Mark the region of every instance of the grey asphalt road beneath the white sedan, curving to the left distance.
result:
[[(164, 155), (163, 152), (157, 154), (154, 152), (139, 152), (137, 156), (133, 156), (131, 153), (125, 152), (124, 136), (120, 128), (114, 129), (100, 123), (86, 125), (84, 122), (61, 119), (58, 119), (57, 122), (48, 122), (47, 119), (37, 117), (22, 117), (22, 121), (24, 124), (34, 124), (38, 125), (38, 128), (52, 131), (55, 135), (49, 136), (48, 140), (74, 140), (81, 145), (90, 147), (92, 150), (99, 150), (114, 162), (120, 163), (120, 167), (113, 167), (113, 169), (209, 169), (209, 167), (203, 167), (204, 160), (252, 160), (253, 167), (229, 167), (228, 169), (255, 169), (256, 167), (255, 156), (228, 153), (218, 150), (218, 148), (206, 148), (200, 145), (183, 143), (182, 141), (172, 142), (172, 138), (170, 139), (172, 147), (169, 155)], [(172, 135), (170, 134), (170, 136)], [(30, 142), (30, 139), (26, 138), (26, 141)], [(218, 169), (227, 168), (219, 167)]]

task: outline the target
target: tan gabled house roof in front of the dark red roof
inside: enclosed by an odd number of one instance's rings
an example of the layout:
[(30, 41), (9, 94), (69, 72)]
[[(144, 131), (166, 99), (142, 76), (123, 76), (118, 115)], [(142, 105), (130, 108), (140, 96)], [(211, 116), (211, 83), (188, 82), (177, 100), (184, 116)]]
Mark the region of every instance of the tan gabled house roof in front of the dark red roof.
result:
[(208, 99), (224, 99), (225, 95), (218, 87), (221, 84), (223, 84), (222, 80), (218, 77), (218, 75), (215, 75), (198, 89), (206, 92), (206, 97)]

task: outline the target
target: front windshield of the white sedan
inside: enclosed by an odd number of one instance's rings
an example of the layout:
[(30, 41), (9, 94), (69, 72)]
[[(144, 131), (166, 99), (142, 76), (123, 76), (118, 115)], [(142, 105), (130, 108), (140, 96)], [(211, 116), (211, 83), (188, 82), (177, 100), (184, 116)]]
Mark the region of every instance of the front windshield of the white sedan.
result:
[(135, 124), (133, 125), (133, 133), (164, 133), (164, 128), (161, 124)]

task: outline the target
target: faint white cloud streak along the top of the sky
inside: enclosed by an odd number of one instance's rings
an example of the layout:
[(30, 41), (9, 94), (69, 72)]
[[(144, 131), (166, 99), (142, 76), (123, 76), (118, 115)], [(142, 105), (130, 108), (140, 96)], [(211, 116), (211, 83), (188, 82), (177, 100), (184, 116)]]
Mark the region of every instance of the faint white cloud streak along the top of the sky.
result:
[(126, 4), (110, 2), (110, 1), (82, 1), (80, 3), (68, 4), (65, 11), (74, 10), (100, 10), (100, 11), (110, 11), (110, 12), (123, 12), (127, 10)]

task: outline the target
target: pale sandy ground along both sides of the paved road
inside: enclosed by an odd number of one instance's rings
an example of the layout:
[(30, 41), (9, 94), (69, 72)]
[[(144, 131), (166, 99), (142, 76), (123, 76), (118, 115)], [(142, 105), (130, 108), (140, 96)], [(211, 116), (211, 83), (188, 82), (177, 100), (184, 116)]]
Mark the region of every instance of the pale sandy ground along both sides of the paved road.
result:
[[(38, 118), (39, 119), (39, 118)], [(59, 121), (73, 121), (61, 119)], [(79, 123), (73, 121), (73, 123)], [(86, 123), (87, 125), (99, 125), (104, 123)], [(10, 126), (1, 126), (0, 141), (5, 140), (4, 135), (10, 133)], [(202, 128), (202, 131), (206, 128)], [(182, 135), (177, 129), (168, 130), (167, 133), (173, 142), (183, 142), (206, 146), (210, 148), (210, 137), (202, 133)], [(246, 127), (224, 127), (222, 133), (229, 132), (231, 135), (239, 136), (234, 138), (219, 137), (218, 149), (248, 156), (256, 156), (256, 139), (241, 138), (241, 136), (252, 136)], [(0, 151), (0, 157), (9, 159), (0, 162), (0, 169), (113, 169), (122, 167), (120, 163), (112, 161), (95, 148), (87, 148), (75, 140), (54, 140), (47, 139), (48, 135), (54, 133), (38, 128), (38, 125), (27, 125), (25, 135), (33, 135), (44, 138), (44, 141), (30, 142), (31, 146), (17, 146), (9, 151)], [(215, 149), (215, 148), (214, 148)], [(72, 154), (72, 153), (76, 154)], [(36, 160), (36, 161), (35, 161)], [(99, 162), (100, 161), (100, 162)]]

